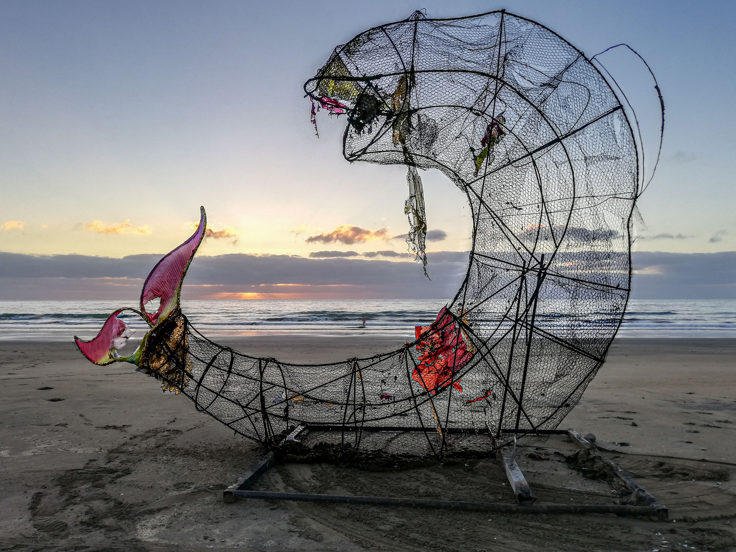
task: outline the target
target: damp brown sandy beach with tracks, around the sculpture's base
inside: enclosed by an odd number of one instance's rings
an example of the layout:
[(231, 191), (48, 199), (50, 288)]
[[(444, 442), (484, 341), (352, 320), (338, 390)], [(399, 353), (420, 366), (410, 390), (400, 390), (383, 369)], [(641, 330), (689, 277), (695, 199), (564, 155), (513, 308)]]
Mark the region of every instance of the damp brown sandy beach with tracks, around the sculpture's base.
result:
[[(218, 341), (301, 362), (397, 344), (374, 336)], [(736, 550), (736, 339), (618, 339), (563, 423), (595, 434), (668, 506), (668, 521), (225, 504), (222, 489), (262, 451), (187, 399), (162, 393), (131, 365), (95, 367), (71, 342), (0, 342), (0, 354), (0, 550)], [(539, 503), (611, 500), (603, 482), (565, 471), (554, 451), (570, 447), (550, 439), (520, 452)], [(280, 464), (258, 488), (512, 503), (505, 481), (492, 459), (394, 473)]]

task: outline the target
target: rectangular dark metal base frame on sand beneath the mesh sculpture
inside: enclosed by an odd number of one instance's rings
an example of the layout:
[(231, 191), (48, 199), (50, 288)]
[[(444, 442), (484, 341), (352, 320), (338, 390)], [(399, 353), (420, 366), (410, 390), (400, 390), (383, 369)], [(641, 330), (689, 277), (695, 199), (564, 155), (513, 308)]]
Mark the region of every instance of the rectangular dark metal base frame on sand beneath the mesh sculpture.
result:
[[(304, 435), (306, 431), (331, 431), (331, 427), (320, 427), (319, 425), (301, 424), (297, 426), (291, 433), (286, 436), (280, 446), (286, 445), (288, 442), (297, 440), (297, 436)], [(366, 428), (363, 428), (364, 431)], [(414, 429), (414, 428), (412, 428)], [(383, 431), (397, 431), (396, 429)], [(404, 429), (406, 431), (406, 429)], [(411, 431), (411, 429), (409, 430)], [(428, 431), (424, 428), (417, 428), (414, 431)], [(526, 431), (515, 429), (504, 429), (501, 434), (517, 434), (526, 433)], [(579, 447), (587, 448), (590, 451), (596, 451), (593, 445), (587, 439), (580, 436), (573, 429), (565, 430), (547, 430), (539, 431), (539, 434), (547, 435), (567, 435), (570, 440)], [(619, 516), (643, 516), (658, 517), (659, 519), (667, 519), (668, 509), (659, 502), (650, 492), (643, 486), (634, 481), (629, 474), (625, 473), (617, 464), (601, 456), (601, 461), (608, 464), (614, 469), (616, 477), (620, 478), (631, 492), (640, 495), (648, 504), (647, 506), (628, 506), (619, 504), (548, 504), (534, 505), (536, 497), (531, 492), (531, 488), (526, 482), (526, 478), (514, 459), (513, 447), (500, 447), (500, 458), (503, 467), (506, 470), (506, 476), (512, 486), (514, 496), (518, 504), (498, 504), (490, 502), (475, 502), (468, 500), (430, 500), (424, 498), (391, 498), (391, 497), (373, 497), (360, 495), (318, 495), (302, 492), (270, 492), (270, 491), (252, 491), (250, 486), (255, 482), (261, 473), (264, 473), (275, 463), (275, 453), (269, 452), (262, 456), (261, 459), (255, 461), (247, 472), (236, 482), (222, 492), (222, 500), (226, 503), (233, 503), (238, 498), (255, 498), (261, 500), (293, 500), (299, 502), (331, 502), (344, 504), (373, 504), (381, 506), (414, 506), (419, 508), (442, 508), (453, 510), (474, 510), (483, 512), (502, 512), (507, 514), (617, 514)]]

